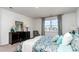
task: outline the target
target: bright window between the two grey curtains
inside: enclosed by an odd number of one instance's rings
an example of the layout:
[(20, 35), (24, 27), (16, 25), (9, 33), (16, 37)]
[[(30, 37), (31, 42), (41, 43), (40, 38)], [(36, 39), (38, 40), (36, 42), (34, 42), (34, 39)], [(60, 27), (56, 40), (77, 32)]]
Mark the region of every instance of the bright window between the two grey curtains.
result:
[(51, 17), (45, 19), (45, 31), (58, 32), (58, 20), (57, 17)]

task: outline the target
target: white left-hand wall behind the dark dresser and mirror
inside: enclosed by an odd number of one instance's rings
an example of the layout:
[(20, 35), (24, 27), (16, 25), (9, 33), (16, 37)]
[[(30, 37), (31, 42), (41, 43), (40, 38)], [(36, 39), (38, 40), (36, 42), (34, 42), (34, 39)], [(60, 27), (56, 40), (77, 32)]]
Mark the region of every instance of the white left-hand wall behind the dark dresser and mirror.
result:
[(5, 9), (2, 9), (1, 15), (1, 44), (9, 43), (9, 32), (12, 26), (15, 26), (15, 21), (21, 21), (25, 27), (33, 28), (33, 20), (24, 15), (20, 15)]

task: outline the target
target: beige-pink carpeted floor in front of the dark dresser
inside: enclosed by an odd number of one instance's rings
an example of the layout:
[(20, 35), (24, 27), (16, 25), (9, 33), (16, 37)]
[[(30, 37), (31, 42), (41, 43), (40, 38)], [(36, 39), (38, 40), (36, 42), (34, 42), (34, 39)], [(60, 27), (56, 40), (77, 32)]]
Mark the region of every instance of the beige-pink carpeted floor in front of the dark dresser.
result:
[(14, 52), (16, 51), (17, 44), (7, 44), (7, 45), (0, 45), (0, 52)]

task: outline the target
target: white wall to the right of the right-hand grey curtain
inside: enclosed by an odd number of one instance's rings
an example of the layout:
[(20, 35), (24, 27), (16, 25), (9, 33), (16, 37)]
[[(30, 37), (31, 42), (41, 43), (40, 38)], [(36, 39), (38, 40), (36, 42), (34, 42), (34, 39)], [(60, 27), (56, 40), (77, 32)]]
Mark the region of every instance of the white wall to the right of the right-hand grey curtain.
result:
[(67, 13), (62, 16), (62, 32), (63, 34), (77, 28), (76, 13)]

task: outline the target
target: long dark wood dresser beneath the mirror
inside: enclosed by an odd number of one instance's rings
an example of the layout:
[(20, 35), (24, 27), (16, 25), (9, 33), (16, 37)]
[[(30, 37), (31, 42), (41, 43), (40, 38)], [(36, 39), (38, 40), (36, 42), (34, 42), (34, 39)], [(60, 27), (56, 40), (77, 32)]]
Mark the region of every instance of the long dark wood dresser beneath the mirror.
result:
[(22, 42), (30, 39), (30, 31), (28, 32), (9, 32), (9, 44)]

